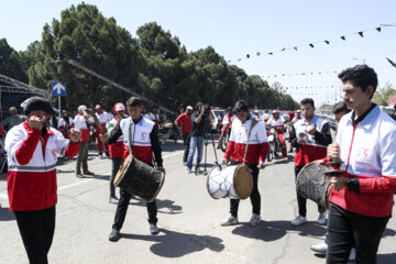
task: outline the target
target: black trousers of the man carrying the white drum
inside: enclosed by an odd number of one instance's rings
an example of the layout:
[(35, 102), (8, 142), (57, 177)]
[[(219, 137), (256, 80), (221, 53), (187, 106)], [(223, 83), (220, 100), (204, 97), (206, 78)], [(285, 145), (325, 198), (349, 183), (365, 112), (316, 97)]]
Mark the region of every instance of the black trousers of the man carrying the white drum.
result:
[[(237, 163), (234, 161), (231, 161), (231, 165), (237, 165), (237, 164), (241, 164), (241, 163)], [(253, 190), (252, 194), (250, 196), (251, 198), (251, 202), (252, 202), (252, 207), (253, 213), (260, 215), (261, 211), (261, 196), (258, 193), (258, 168), (257, 168), (257, 164), (246, 164), (246, 166), (252, 169), (252, 175), (253, 175)], [(238, 208), (239, 208), (239, 202), (240, 199), (230, 199), (230, 213), (233, 217), (238, 217)]]

